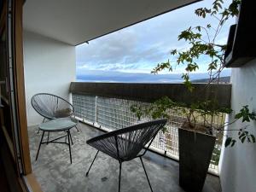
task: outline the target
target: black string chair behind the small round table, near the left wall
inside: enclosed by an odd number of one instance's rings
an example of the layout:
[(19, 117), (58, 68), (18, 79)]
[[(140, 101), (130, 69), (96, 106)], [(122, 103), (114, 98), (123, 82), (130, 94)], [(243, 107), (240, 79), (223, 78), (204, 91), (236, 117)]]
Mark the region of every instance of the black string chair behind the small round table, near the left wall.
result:
[[(61, 96), (55, 96), (49, 93), (38, 93), (32, 96), (31, 104), (32, 108), (34, 108), (36, 112), (38, 112), (41, 116), (44, 117), (43, 122), (45, 119), (50, 120), (57, 118), (72, 117), (74, 113), (73, 105), (70, 102), (67, 102), (65, 99), (61, 98)], [(77, 126), (75, 126), (75, 128), (77, 129), (77, 131), (79, 131)]]

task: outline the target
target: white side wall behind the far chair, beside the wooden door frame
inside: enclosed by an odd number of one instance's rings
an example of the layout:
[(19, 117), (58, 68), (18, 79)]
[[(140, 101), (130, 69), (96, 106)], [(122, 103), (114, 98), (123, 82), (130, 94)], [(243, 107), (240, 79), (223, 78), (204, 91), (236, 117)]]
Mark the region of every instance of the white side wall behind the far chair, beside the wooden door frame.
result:
[(26, 116), (28, 125), (43, 118), (35, 112), (31, 98), (39, 92), (69, 99), (69, 85), (76, 75), (75, 47), (32, 32), (24, 32)]

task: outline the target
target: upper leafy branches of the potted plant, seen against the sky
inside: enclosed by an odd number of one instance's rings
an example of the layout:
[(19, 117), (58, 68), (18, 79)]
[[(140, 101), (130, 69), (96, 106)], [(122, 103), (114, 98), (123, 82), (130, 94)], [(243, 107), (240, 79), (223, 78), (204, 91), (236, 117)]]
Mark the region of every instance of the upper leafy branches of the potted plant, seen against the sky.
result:
[[(185, 41), (188, 48), (185, 50), (173, 49), (171, 51), (171, 61), (174, 61), (174, 65), (185, 65), (182, 79), (190, 91), (194, 90), (194, 86), (190, 81), (189, 74), (200, 68), (198, 60), (202, 56), (209, 58), (207, 64), (209, 84), (214, 80), (218, 82), (219, 74), (224, 69), (224, 51), (227, 48), (226, 44), (218, 44), (218, 34), (230, 17), (238, 15), (240, 4), (241, 0), (233, 0), (228, 7), (224, 8), (223, 0), (215, 0), (210, 9), (195, 9), (195, 15), (203, 19), (211, 16), (216, 20), (216, 23), (208, 23), (206, 26), (189, 26), (188, 29), (178, 35), (177, 40)], [(171, 61), (159, 63), (157, 67), (154, 67), (152, 73), (159, 73), (165, 69), (172, 71)]]

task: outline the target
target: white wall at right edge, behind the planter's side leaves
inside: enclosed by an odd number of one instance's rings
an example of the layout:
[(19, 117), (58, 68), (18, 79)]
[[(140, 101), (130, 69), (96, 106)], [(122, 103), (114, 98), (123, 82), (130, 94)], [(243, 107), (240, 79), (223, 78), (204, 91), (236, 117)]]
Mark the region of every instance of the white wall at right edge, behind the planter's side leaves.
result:
[[(239, 113), (242, 106), (248, 105), (256, 112), (256, 60), (248, 62), (240, 68), (233, 68), (231, 75), (232, 98), (231, 108)], [(229, 129), (239, 129), (249, 125), (247, 130), (256, 137), (256, 122), (241, 124), (241, 121), (230, 125)], [(237, 131), (228, 131), (228, 135), (237, 138)], [(220, 179), (223, 192), (255, 192), (256, 191), (256, 143), (238, 141), (233, 148), (224, 148), (222, 154)]]

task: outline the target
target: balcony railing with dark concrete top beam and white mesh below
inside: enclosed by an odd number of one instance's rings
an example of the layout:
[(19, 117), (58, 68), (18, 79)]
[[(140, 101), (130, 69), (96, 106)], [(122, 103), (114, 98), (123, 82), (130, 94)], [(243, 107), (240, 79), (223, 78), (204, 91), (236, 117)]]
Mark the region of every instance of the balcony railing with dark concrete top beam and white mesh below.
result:
[[(191, 103), (192, 98), (197, 101), (207, 101), (213, 96), (221, 107), (229, 107), (231, 84), (195, 84), (195, 91), (191, 93), (183, 84), (114, 84), (114, 83), (75, 83), (70, 86), (76, 117), (87, 124), (96, 126), (103, 131), (113, 131), (125, 126), (137, 124), (137, 118), (131, 113), (133, 104), (147, 105), (162, 96), (169, 96), (178, 102)], [(202, 93), (200, 90), (204, 88)], [(198, 91), (196, 91), (198, 90)], [(174, 160), (178, 160), (177, 130), (185, 119), (177, 112), (171, 111), (171, 122), (155, 137), (151, 149)], [(224, 125), (226, 114), (215, 115), (213, 122), (218, 126)], [(150, 120), (151, 117), (144, 116)], [(202, 120), (202, 119), (201, 119)], [(223, 134), (217, 132), (215, 149), (209, 172), (218, 175), (218, 160), (222, 148)]]

